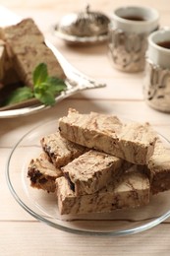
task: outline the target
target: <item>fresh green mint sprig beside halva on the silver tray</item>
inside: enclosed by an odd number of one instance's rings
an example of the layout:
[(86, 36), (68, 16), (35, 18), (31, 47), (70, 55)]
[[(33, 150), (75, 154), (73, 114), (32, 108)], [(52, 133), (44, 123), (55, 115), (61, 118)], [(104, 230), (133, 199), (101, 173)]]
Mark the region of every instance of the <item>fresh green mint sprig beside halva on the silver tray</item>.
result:
[(18, 88), (5, 101), (5, 105), (19, 103), (35, 97), (45, 105), (54, 105), (55, 96), (65, 91), (67, 86), (62, 79), (50, 77), (47, 65), (40, 63), (32, 74), (33, 89), (28, 87)]

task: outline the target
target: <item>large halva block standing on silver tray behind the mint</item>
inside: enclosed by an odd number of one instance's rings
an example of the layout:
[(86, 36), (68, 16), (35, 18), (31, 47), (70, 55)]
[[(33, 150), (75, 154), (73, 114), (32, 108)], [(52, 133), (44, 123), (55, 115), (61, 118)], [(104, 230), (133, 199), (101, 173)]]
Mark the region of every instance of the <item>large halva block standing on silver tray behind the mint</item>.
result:
[(32, 72), (40, 63), (47, 65), (49, 76), (65, 78), (58, 60), (46, 46), (42, 32), (32, 19), (6, 27), (1, 37), (21, 81), (28, 87), (33, 87)]

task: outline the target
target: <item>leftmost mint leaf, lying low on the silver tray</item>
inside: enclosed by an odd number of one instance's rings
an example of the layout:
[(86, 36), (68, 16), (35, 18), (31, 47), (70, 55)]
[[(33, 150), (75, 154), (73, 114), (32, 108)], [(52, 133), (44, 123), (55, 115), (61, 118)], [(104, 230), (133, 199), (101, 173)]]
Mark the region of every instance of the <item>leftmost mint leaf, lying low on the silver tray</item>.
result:
[(6, 98), (4, 105), (19, 103), (31, 97), (33, 97), (33, 94), (30, 88), (18, 88), (10, 96)]

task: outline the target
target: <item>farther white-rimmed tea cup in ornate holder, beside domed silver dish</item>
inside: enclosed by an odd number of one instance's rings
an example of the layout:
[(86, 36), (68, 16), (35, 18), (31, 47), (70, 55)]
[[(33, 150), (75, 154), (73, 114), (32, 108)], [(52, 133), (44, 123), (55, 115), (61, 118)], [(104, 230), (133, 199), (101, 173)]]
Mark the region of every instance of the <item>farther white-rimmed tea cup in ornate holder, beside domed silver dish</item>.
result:
[(147, 36), (157, 30), (159, 14), (152, 8), (127, 6), (116, 9), (109, 28), (109, 56), (116, 69), (144, 69)]

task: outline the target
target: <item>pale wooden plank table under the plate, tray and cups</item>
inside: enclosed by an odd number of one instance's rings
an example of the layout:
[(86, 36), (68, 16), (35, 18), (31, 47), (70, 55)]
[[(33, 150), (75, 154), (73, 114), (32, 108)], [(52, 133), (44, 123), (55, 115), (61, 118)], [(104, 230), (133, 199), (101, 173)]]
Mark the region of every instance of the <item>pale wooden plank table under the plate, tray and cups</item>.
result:
[[(131, 1), (131, 4), (141, 1)], [(0, 119), (0, 255), (170, 255), (170, 219), (147, 231), (124, 237), (88, 236), (64, 232), (39, 223), (15, 201), (5, 177), (9, 154), (19, 139), (38, 124), (65, 115), (68, 108), (81, 112), (98, 111), (122, 115), (137, 121), (149, 121), (157, 131), (170, 139), (170, 116), (145, 104), (142, 96), (143, 73), (124, 74), (113, 69), (107, 54), (107, 45), (67, 46), (56, 38), (52, 26), (67, 13), (79, 11), (84, 1), (78, 0), (1, 0), (12, 12), (31, 17), (61, 53), (80, 71), (107, 87), (71, 96), (53, 108), (13, 119)], [(91, 9), (111, 11), (127, 1), (93, 0)], [(160, 12), (160, 25), (169, 25), (170, 4), (167, 1), (142, 1)], [(11, 23), (16, 16), (0, 9), (5, 20)], [(11, 20), (10, 20), (11, 19)], [(20, 184), (19, 184), (20, 185)]]

